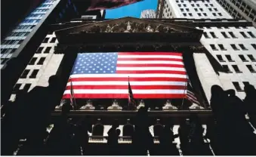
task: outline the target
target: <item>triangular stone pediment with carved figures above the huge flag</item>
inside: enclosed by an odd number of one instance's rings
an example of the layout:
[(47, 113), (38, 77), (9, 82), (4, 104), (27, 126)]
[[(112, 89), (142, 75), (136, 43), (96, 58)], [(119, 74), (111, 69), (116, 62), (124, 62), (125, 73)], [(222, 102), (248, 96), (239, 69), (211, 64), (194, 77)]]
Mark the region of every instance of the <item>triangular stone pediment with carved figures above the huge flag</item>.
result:
[(103, 20), (95, 23), (82, 24), (81, 26), (69, 27), (56, 31), (56, 33), (65, 32), (65, 34), (81, 33), (132, 33), (132, 32), (197, 32), (187, 26), (180, 26), (172, 23), (163, 23), (158, 20), (138, 19), (134, 17), (123, 17), (116, 20)]

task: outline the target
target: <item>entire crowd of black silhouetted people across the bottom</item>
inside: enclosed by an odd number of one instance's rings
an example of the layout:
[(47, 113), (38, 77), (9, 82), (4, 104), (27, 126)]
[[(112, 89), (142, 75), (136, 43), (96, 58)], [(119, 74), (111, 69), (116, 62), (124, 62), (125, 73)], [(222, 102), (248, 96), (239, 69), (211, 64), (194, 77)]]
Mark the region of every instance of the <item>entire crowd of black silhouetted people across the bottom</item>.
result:
[[(35, 97), (32, 99), (23, 99), (26, 93), (21, 91), (16, 100), (8, 104), (2, 119), (2, 155), (13, 155), (20, 139), (26, 139), (18, 152), (20, 155), (86, 155), (89, 139), (86, 133), (92, 132), (92, 125), (88, 118), (73, 124), (68, 117), (71, 109), (69, 104), (63, 105), (62, 115), (54, 122), (51, 134), (45, 129), (51, 122), (51, 110), (57, 104), (51, 100), (52, 95), (57, 93), (54, 91), (55, 82), (53, 77), (48, 87), (34, 88), (28, 96)], [(185, 155), (207, 155), (202, 154), (205, 139), (210, 140), (217, 155), (255, 155), (256, 138), (251, 125), (256, 127), (256, 90), (254, 86), (247, 85), (245, 93), (245, 100), (240, 100), (235, 91), (212, 86), (210, 105), (214, 116), (208, 120), (206, 136), (203, 137), (204, 129), (196, 115), (191, 115), (189, 120), (180, 119), (178, 134), (174, 134), (174, 125), (168, 120), (157, 135), (161, 149), (158, 155), (170, 155), (170, 147), (177, 137)], [(41, 98), (38, 98), (39, 95)], [(248, 114), (251, 125), (245, 119), (245, 114)], [(119, 122), (114, 121), (108, 131), (109, 155), (118, 155), (116, 147), (119, 145), (120, 132)], [(156, 145), (150, 133), (147, 106), (137, 111), (131, 140), (134, 155), (154, 153)]]

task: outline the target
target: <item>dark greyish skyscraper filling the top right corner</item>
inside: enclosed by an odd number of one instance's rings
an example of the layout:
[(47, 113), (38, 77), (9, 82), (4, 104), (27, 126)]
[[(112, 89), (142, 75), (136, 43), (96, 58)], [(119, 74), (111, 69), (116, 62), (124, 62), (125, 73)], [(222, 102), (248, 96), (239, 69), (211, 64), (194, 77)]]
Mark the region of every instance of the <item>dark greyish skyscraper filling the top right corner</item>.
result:
[(245, 19), (256, 27), (256, 1), (217, 0), (234, 19)]

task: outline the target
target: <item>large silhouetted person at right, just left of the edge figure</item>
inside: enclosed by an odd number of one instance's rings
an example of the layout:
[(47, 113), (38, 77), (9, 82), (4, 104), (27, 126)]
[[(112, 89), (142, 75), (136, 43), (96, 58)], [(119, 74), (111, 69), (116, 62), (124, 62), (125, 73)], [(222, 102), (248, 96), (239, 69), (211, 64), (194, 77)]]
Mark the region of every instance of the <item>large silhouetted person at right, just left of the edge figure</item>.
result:
[(236, 97), (236, 92), (212, 86), (211, 108), (217, 121), (218, 155), (251, 154), (248, 137), (253, 137), (252, 130), (245, 119), (245, 103)]

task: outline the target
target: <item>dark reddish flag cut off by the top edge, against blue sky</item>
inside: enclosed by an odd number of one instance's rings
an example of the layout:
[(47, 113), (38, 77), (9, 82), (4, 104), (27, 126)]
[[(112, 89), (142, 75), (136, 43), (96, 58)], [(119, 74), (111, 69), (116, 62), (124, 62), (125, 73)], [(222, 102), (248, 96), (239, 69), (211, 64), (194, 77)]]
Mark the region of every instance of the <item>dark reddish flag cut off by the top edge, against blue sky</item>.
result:
[(87, 11), (114, 9), (140, 1), (143, 0), (91, 0), (91, 5)]

